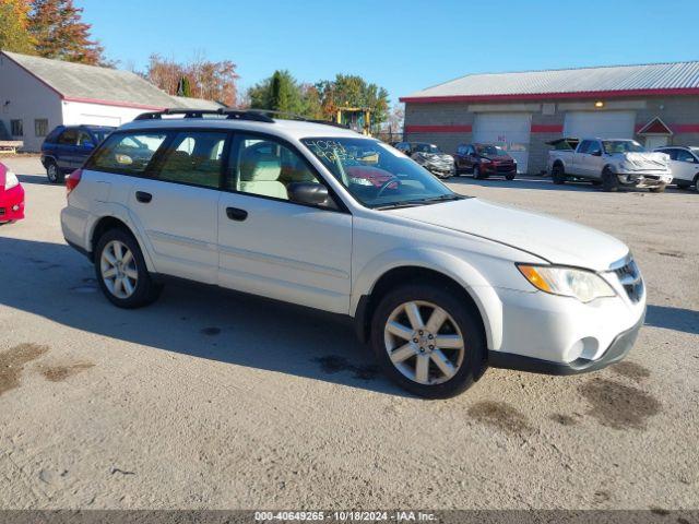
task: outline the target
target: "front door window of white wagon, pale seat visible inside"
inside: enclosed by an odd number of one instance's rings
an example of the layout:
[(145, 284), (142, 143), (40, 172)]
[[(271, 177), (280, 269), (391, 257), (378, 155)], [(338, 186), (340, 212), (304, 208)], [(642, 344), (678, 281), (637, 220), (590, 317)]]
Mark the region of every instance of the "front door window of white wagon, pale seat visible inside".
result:
[(289, 200), (294, 182), (321, 183), (299, 153), (272, 136), (237, 134), (226, 186), (241, 193)]

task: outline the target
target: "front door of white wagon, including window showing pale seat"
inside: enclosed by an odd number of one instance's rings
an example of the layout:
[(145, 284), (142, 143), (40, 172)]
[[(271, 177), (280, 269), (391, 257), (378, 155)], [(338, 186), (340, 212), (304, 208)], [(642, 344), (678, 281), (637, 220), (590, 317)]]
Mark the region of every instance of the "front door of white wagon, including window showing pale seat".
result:
[(321, 183), (291, 144), (236, 134), (218, 202), (218, 283), (303, 306), (350, 308), (352, 215), (334, 202), (295, 204), (286, 186)]

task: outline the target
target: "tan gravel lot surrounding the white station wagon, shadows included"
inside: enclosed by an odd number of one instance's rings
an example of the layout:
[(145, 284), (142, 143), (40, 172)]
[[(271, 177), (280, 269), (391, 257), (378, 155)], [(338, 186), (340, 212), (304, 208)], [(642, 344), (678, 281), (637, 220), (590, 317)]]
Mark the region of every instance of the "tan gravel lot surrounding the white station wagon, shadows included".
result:
[(63, 242), (64, 189), (2, 162), (27, 192), (0, 227), (2, 509), (699, 507), (696, 192), (455, 179), (621, 238), (649, 310), (617, 366), (428, 402), (321, 314), (193, 286), (110, 306)]

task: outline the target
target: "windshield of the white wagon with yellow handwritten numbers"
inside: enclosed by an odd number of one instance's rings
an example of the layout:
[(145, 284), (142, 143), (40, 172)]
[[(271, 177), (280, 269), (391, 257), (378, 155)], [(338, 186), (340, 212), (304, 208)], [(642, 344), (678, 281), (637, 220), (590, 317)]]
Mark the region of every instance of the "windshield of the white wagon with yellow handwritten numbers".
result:
[(301, 142), (367, 207), (425, 205), (463, 198), (377, 140), (316, 138)]

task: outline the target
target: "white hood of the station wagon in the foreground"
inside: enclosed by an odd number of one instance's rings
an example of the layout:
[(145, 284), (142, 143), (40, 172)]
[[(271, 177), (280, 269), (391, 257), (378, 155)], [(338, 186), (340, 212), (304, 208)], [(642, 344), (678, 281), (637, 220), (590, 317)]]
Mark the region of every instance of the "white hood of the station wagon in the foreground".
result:
[(624, 242), (596, 229), (479, 199), (403, 207), (389, 213), (486, 238), (553, 264), (604, 271), (629, 251)]

